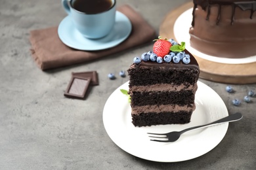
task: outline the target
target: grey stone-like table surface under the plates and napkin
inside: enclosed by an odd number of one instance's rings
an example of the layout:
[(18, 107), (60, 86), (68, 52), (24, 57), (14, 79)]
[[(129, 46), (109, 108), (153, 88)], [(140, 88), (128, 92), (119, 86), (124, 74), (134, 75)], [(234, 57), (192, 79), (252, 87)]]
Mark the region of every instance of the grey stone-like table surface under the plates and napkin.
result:
[[(117, 6), (128, 3), (158, 33), (165, 15), (184, 2), (117, 0)], [(221, 143), (198, 158), (161, 163), (119, 148), (104, 129), (102, 110), (110, 94), (128, 77), (109, 80), (107, 75), (126, 70), (131, 59), (152, 48), (152, 43), (89, 63), (41, 71), (30, 54), (30, 31), (58, 25), (65, 16), (60, 1), (0, 0), (0, 169), (256, 167), (256, 98), (239, 107), (231, 102), (256, 90), (256, 84), (232, 84), (236, 92), (227, 93), (228, 84), (200, 79), (221, 96), (230, 114), (242, 112), (244, 118), (230, 123)], [(100, 85), (91, 88), (85, 100), (64, 97), (72, 72), (94, 70)]]

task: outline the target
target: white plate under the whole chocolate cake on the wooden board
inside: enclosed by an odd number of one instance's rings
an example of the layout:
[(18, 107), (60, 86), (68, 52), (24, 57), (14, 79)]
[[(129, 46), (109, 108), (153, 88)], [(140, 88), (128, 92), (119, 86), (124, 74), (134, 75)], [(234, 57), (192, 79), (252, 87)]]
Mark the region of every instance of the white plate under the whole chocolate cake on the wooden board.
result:
[(209, 56), (207, 54), (203, 54), (202, 52), (199, 52), (195, 48), (192, 48), (190, 46), (190, 35), (188, 31), (191, 27), (191, 22), (192, 22), (192, 10), (193, 9), (188, 9), (184, 11), (177, 18), (173, 26), (175, 39), (179, 43), (181, 43), (182, 41), (186, 42), (186, 49), (190, 53), (200, 58), (207, 59), (209, 61), (214, 61), (217, 63), (240, 64), (240, 63), (253, 63), (256, 61), (256, 56), (251, 56), (247, 58), (218, 58), (216, 56)]

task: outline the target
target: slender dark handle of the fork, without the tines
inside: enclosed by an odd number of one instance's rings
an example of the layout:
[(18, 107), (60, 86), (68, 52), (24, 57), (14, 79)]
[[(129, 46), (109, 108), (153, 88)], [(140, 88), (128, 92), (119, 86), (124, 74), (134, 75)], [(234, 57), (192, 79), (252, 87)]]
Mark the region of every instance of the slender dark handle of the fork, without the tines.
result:
[(236, 112), (235, 114), (230, 114), (224, 118), (221, 118), (219, 120), (216, 120), (215, 122), (211, 122), (209, 124), (205, 124), (205, 125), (201, 125), (201, 126), (194, 126), (194, 127), (190, 127), (188, 129), (184, 129), (181, 131), (181, 133), (184, 133), (186, 131), (190, 131), (192, 129), (198, 129), (200, 127), (207, 127), (207, 126), (213, 126), (215, 124), (221, 124), (221, 123), (224, 123), (224, 122), (234, 122), (234, 121), (237, 121), (237, 120), (240, 120), (242, 119), (242, 114), (240, 112)]

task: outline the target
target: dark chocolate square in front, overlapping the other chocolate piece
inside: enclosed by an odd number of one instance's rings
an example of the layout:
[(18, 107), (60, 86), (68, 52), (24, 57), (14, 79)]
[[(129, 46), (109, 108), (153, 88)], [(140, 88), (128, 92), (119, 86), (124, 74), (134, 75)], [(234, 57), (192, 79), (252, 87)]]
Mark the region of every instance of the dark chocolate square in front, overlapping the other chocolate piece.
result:
[(85, 93), (87, 92), (90, 82), (90, 77), (73, 75), (70, 83), (68, 84), (68, 88), (64, 92), (64, 95), (66, 97), (83, 99), (85, 97)]

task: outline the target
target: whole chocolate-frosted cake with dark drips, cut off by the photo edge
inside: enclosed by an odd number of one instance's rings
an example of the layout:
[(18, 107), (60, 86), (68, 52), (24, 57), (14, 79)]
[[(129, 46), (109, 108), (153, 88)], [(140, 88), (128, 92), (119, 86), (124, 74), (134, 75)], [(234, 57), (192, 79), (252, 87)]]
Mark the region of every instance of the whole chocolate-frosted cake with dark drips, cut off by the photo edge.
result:
[(221, 58), (256, 56), (256, 0), (194, 0), (190, 44)]

